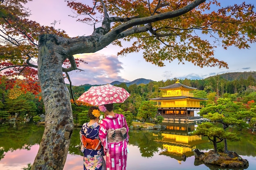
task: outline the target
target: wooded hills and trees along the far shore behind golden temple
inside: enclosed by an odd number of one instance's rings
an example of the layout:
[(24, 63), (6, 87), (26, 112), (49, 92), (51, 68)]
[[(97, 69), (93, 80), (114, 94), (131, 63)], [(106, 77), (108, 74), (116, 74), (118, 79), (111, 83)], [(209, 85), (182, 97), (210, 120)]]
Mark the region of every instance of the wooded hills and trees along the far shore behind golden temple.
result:
[[(256, 101), (255, 74), (256, 72), (226, 73), (201, 80), (190, 80), (185, 78), (184, 80), (179, 81), (184, 85), (196, 87), (198, 90), (193, 93), (199, 98), (208, 98), (209, 101), (214, 101), (216, 98), (231, 95), (234, 98), (238, 98), (239, 101), (244, 100), (245, 103), (247, 103), (249, 100)], [(147, 83), (147, 81), (149, 83)], [(148, 98), (162, 96), (159, 87), (172, 85), (176, 81), (177, 78), (168, 79), (166, 81), (151, 81), (139, 78), (130, 82), (129, 85), (119, 82), (119, 85), (115, 85), (123, 87), (131, 94), (126, 102), (120, 104), (120, 107), (125, 111), (129, 110), (132, 113), (137, 113), (137, 109), (141, 102), (148, 100)], [(97, 85), (85, 84), (81, 86), (72, 86), (71, 91), (70, 85), (67, 84), (67, 87), (70, 90), (70, 98), (76, 100), (91, 86)], [(202, 94), (204, 95), (202, 96)], [(0, 100), (2, 101), (0, 102), (0, 110), (8, 111), (8, 115), (11, 116), (16, 114), (18, 117), (24, 117), (26, 112), (29, 112), (29, 116), (41, 115), (44, 113), (44, 105), (41, 100), (38, 81), (27, 82), (16, 78), (8, 79), (2, 76), (0, 77)], [(73, 100), (72, 103), (74, 103)], [(72, 109), (74, 113), (78, 114), (81, 112), (81, 108), (77, 107), (79, 106), (79, 103), (75, 103), (75, 105), (73, 105)], [(13, 109), (14, 107), (15, 109)], [(77, 115), (74, 115), (74, 121), (77, 119), (76, 116)]]

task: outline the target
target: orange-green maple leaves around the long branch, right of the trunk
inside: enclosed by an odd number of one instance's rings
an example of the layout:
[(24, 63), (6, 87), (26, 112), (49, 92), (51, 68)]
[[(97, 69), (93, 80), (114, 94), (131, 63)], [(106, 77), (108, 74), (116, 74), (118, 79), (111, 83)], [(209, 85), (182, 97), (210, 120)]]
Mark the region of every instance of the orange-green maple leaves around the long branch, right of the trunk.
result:
[[(99, 13), (103, 13), (101, 3), (96, 1), (82, 4), (68, 1), (68, 6), (77, 12), (77, 21), (97, 24), (102, 20)], [(193, 0), (158, 1), (147, 0), (111, 0), (104, 1), (109, 17), (118, 16), (132, 20), (150, 17), (168, 11), (175, 11), (185, 7)], [(91, 4), (91, 5), (90, 5)], [(90, 14), (90, 15), (88, 15)], [(152, 22), (146, 32), (135, 33), (123, 37), (124, 41), (133, 41), (132, 46), (124, 48), (118, 54), (144, 51), (144, 59), (158, 66), (164, 66), (164, 61), (178, 60), (180, 63), (189, 61), (199, 67), (210, 66), (228, 68), (225, 61), (214, 58), (214, 49), (221, 45), (224, 49), (229, 46), (249, 48), (255, 42), (256, 17), (252, 4), (235, 4), (221, 7), (218, 0), (209, 0), (183, 15)], [(115, 18), (117, 20), (117, 18)], [(118, 27), (126, 20), (113, 19), (112, 28)], [(128, 21), (127, 20), (127, 21)], [(141, 24), (138, 28), (145, 26)], [(120, 40), (113, 44), (122, 46)]]

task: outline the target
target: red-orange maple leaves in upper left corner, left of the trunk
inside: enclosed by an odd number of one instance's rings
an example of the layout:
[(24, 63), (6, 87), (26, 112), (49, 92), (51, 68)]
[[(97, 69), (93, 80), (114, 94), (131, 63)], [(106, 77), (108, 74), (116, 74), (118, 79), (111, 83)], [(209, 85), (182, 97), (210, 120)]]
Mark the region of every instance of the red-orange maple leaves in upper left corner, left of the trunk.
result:
[[(31, 0), (29, 0), (31, 1)], [(29, 20), (30, 11), (23, 8), (27, 0), (4, 0), (0, 2), (0, 74), (8, 78), (19, 77), (28, 80), (26, 85), (32, 86), (38, 81), (37, 58), (38, 36), (40, 34), (56, 34), (68, 37), (65, 31), (55, 29), (53, 26), (42, 26), (36, 21)], [(86, 63), (82, 59), (75, 59)], [(69, 61), (63, 62), (68, 68)], [(33, 88), (33, 87), (31, 87)], [(37, 88), (37, 87), (35, 87)]]

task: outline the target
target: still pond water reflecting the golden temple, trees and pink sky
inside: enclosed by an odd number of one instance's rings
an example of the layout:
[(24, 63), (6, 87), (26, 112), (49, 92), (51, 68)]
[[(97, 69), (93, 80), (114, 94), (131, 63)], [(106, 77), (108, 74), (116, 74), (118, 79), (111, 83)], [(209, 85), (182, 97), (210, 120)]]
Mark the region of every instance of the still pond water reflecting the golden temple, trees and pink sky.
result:
[[(164, 131), (130, 130), (127, 170), (243, 170), (205, 165), (195, 159), (193, 150), (213, 148), (207, 138), (190, 135), (195, 124), (166, 123)], [(0, 124), (0, 170), (21, 170), (33, 163), (44, 127), (31, 123)], [(83, 156), (78, 149), (80, 129), (72, 134), (64, 170), (82, 170)], [(247, 170), (256, 169), (256, 134), (239, 132), (240, 142), (228, 142), (228, 149), (249, 161)], [(182, 161), (182, 155), (186, 160)]]

